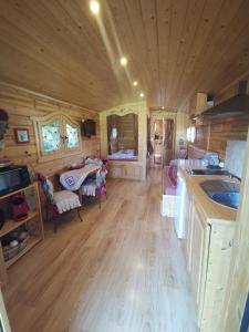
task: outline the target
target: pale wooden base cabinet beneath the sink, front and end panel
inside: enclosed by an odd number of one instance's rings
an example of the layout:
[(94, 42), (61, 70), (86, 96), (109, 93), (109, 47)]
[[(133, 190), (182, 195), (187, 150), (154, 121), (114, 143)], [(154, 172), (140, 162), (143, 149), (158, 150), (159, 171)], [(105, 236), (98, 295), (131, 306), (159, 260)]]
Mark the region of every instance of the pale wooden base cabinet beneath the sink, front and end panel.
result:
[(186, 260), (198, 326), (218, 332), (236, 227), (235, 222), (207, 218), (195, 195), (189, 194), (188, 201)]

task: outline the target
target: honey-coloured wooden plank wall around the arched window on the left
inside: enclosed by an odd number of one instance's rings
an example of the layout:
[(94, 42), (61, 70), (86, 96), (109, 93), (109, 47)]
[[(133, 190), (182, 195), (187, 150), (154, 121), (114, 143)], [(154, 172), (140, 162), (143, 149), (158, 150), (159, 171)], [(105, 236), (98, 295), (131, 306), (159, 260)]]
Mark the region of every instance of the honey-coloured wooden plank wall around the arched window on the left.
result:
[[(48, 96), (33, 93), (13, 85), (0, 82), (0, 108), (9, 114), (9, 129), (6, 135), (6, 148), (0, 151), (0, 158), (7, 157), (14, 164), (32, 164), (35, 172), (42, 172), (46, 176), (54, 175), (58, 170), (82, 162), (87, 155), (100, 155), (100, 122), (98, 114), (79, 106), (64, 103)], [(71, 157), (58, 158), (53, 162), (38, 163), (38, 151), (32, 116), (48, 115), (55, 111), (64, 111), (79, 123), (82, 118), (96, 121), (96, 136), (82, 137), (82, 153)], [(13, 128), (28, 128), (30, 143), (18, 145), (14, 139)], [(27, 157), (27, 153), (29, 157)]]

